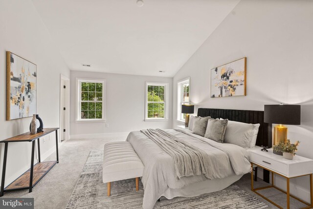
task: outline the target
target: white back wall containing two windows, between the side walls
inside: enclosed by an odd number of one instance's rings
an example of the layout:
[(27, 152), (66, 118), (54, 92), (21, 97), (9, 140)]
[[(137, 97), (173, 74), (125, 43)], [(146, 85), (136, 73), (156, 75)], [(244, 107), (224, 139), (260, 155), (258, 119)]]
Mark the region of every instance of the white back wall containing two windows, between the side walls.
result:
[[(75, 122), (76, 78), (106, 79), (107, 121), (106, 123)], [(145, 82), (169, 84), (169, 120), (144, 121)], [(70, 137), (101, 137), (107, 133), (130, 132), (144, 128), (172, 127), (173, 79), (152, 76), (135, 76), (113, 73), (71, 71), (70, 73)]]

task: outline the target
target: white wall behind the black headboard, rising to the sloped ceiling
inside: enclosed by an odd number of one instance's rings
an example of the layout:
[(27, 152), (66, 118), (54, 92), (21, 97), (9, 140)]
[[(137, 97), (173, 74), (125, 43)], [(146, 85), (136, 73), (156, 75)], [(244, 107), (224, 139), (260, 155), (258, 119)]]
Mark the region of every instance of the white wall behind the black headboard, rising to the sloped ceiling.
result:
[[(247, 57), (247, 96), (211, 99), (210, 69), (242, 57)], [(241, 0), (174, 77), (173, 126), (179, 124), (177, 81), (189, 76), (196, 108), (301, 104), (301, 125), (290, 125), (288, 137), (301, 141), (299, 155), (313, 159), (313, 1)], [(277, 181), (286, 188), (283, 183)], [(308, 177), (291, 183), (291, 192), (310, 201)]]

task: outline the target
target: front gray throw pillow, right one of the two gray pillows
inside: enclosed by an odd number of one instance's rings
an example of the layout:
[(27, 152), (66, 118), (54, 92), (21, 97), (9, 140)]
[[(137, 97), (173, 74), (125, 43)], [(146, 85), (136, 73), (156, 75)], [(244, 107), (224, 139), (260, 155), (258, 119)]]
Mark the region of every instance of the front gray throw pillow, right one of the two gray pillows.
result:
[(223, 143), (228, 120), (216, 120), (210, 118), (207, 122), (205, 138)]

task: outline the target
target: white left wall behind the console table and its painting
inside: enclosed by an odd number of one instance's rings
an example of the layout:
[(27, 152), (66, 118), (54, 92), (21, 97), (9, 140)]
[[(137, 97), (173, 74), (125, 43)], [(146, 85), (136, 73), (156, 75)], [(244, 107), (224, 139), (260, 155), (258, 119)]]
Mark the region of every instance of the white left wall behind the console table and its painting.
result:
[[(31, 118), (6, 121), (6, 51), (37, 64), (37, 113), (45, 127), (59, 127), (60, 73), (69, 77), (69, 69), (31, 0), (0, 0), (0, 40), (0, 140), (29, 131), (31, 122)], [(44, 139), (42, 160), (55, 150), (55, 134)], [(3, 151), (1, 143), (1, 173)], [(9, 143), (6, 185), (29, 169), (30, 154), (31, 143)]]

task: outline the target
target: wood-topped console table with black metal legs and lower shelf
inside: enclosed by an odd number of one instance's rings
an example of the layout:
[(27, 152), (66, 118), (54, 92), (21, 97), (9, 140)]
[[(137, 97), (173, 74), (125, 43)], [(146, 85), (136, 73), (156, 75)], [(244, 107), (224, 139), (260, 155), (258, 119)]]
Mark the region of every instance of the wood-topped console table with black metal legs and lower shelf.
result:
[[(57, 163), (59, 163), (59, 151), (58, 151), (58, 129), (59, 128), (44, 128), (44, 132), (30, 134), (30, 132), (23, 133), (18, 136), (11, 137), (9, 139), (0, 141), (4, 143), (4, 156), (3, 156), (3, 167), (2, 167), (2, 179), (1, 179), (1, 190), (0, 197), (3, 196), (4, 191), (13, 191), (21, 189), (29, 189), (29, 192), (32, 191), (32, 188), (45, 176), (45, 174)], [(57, 151), (57, 160), (41, 162), (40, 160), (40, 137), (43, 137), (51, 132), (55, 131), (55, 141), (56, 141), (56, 151)], [(38, 139), (38, 163), (34, 165), (34, 152), (35, 152), (35, 142)], [(8, 154), (8, 144), (10, 142), (31, 142), (31, 163), (30, 169), (24, 172), (19, 178), (12, 182), (9, 186), (4, 188), (5, 181), (5, 169), (6, 169), (6, 160)]]

